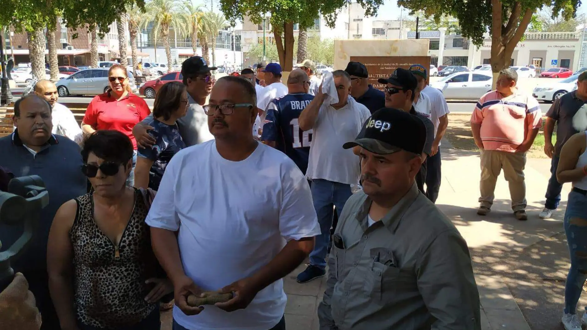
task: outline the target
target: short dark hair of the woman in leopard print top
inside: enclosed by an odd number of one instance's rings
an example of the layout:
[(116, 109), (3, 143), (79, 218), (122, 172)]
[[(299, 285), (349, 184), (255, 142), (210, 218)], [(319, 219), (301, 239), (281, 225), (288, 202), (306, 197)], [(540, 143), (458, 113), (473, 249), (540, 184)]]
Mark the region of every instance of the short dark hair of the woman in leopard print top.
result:
[(126, 164), (133, 158), (133, 143), (128, 136), (117, 130), (97, 130), (90, 134), (82, 143), (82, 159), (87, 163), (87, 157), (94, 153), (105, 161)]

